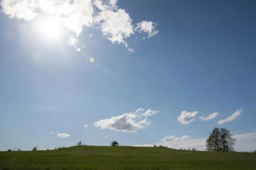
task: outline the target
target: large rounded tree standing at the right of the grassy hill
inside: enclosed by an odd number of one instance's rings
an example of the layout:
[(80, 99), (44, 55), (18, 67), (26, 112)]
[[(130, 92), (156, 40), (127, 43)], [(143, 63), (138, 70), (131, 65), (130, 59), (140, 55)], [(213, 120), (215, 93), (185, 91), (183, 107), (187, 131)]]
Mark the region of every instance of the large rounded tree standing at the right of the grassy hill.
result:
[(206, 141), (207, 151), (234, 151), (233, 134), (226, 128), (214, 128)]

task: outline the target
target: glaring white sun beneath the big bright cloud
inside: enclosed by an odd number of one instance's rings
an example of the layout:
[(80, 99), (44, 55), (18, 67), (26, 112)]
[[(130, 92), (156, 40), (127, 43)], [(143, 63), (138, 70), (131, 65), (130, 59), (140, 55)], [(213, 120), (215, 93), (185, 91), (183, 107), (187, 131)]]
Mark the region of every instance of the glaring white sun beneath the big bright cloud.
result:
[(42, 36), (57, 39), (61, 37), (61, 23), (56, 18), (46, 18), (36, 24)]

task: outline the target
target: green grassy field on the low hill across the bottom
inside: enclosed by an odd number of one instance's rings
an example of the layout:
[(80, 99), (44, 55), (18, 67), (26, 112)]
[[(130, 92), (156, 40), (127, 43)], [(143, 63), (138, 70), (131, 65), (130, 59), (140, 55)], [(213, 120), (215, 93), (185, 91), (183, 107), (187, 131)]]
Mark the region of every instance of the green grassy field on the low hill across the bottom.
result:
[(51, 151), (0, 152), (0, 169), (256, 169), (256, 154), (79, 146)]

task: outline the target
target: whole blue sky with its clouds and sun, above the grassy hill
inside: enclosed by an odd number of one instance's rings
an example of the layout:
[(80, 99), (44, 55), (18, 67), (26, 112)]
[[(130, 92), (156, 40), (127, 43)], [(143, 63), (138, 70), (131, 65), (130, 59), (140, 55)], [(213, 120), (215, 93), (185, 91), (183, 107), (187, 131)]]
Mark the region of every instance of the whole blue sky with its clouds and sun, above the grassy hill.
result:
[(0, 150), (256, 149), (256, 2), (2, 0)]

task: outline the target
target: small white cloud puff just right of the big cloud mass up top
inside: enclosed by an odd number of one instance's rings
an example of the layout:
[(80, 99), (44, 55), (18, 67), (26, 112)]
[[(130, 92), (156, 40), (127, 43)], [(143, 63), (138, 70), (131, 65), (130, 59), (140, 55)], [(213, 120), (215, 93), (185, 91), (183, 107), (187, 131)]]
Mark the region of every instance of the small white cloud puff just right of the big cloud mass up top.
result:
[(149, 38), (158, 34), (159, 31), (155, 29), (156, 26), (157, 26), (156, 23), (142, 21), (141, 23), (137, 24), (137, 27), (135, 27), (135, 31), (146, 32)]

